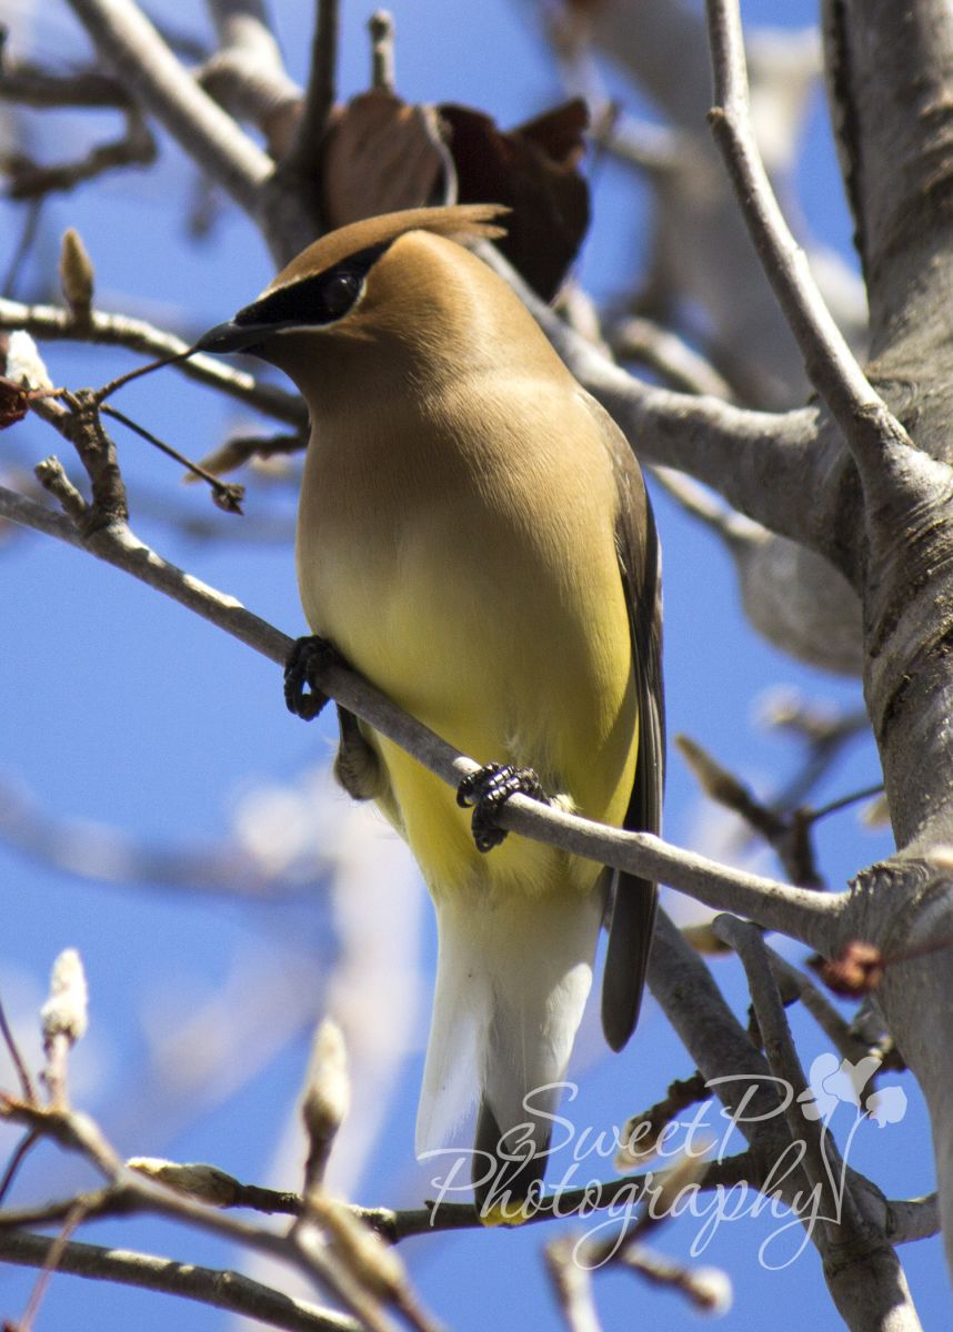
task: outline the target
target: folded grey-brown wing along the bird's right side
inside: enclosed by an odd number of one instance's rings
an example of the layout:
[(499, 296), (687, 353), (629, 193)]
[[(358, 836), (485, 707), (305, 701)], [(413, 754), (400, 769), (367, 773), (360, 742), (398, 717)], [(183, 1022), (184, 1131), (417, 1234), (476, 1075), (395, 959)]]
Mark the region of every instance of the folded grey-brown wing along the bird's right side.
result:
[[(590, 409), (600, 421), (618, 490), (616, 549), (629, 615), (638, 702), (636, 777), (624, 827), (632, 832), (658, 832), (665, 781), (658, 538), (642, 474), (625, 436), (597, 402), (592, 401)], [(638, 1020), (656, 900), (654, 883), (633, 874), (612, 871), (609, 946), (602, 976), (602, 1031), (613, 1050), (622, 1048)]]

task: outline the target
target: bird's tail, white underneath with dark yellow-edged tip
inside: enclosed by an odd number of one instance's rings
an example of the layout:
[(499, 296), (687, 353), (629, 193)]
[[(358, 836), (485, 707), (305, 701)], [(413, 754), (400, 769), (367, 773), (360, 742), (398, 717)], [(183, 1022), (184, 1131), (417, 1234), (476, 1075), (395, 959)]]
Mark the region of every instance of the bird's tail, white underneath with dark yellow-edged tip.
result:
[[(486, 1220), (518, 1219), (520, 1203), (542, 1180), (601, 915), (601, 894), (578, 888), (437, 903), (437, 988), (417, 1155), (433, 1152), (452, 1167), (460, 1146), (456, 1162), (472, 1159)], [(473, 1151), (455, 1143), (437, 1152), (477, 1096)]]

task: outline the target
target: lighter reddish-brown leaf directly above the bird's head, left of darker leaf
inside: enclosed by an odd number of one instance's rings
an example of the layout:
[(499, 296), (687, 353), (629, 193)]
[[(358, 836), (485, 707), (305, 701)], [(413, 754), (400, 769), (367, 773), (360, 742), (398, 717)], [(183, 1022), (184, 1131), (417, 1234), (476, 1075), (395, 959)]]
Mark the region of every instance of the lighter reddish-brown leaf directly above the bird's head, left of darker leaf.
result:
[(335, 108), (324, 144), (328, 226), (444, 202), (444, 164), (432, 107), (411, 107), (384, 88), (360, 93)]

